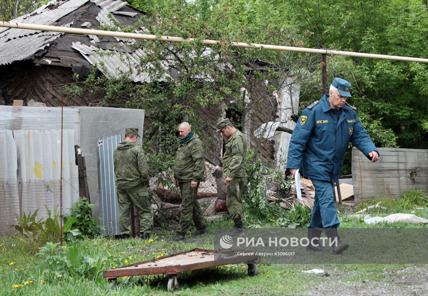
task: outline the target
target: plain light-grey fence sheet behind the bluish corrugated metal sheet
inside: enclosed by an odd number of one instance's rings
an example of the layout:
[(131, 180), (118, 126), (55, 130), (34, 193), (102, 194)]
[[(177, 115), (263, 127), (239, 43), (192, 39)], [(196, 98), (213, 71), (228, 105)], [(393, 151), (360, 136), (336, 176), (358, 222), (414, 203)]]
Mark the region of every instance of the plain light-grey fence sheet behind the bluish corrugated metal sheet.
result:
[[(107, 108), (107, 107), (76, 107), (80, 109), (80, 148), (86, 160), (91, 203), (95, 206), (92, 215), (99, 217), (97, 139), (125, 133), (125, 127), (136, 127), (143, 133), (144, 110)], [(141, 135), (140, 133), (140, 135)], [(137, 138), (141, 144), (141, 139)]]

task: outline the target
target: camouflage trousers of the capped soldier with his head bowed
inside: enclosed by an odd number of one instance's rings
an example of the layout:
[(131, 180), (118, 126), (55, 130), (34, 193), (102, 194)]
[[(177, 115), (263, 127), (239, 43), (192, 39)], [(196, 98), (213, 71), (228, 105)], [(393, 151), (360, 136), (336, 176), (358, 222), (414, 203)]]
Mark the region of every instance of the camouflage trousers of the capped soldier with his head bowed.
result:
[(226, 184), (226, 207), (235, 222), (240, 222), (244, 218), (244, 213), (242, 212), (244, 187), (245, 177), (235, 177)]

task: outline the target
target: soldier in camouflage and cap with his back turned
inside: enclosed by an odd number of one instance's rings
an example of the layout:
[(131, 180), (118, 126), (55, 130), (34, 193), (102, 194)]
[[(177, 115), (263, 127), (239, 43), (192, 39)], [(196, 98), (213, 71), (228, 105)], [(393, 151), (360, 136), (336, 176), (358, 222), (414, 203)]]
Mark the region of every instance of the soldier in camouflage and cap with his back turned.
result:
[(143, 147), (138, 145), (138, 129), (126, 128), (125, 139), (114, 149), (113, 164), (116, 174), (119, 202), (119, 230), (125, 238), (131, 237), (129, 214), (134, 203), (140, 215), (141, 239), (149, 239), (153, 229), (153, 209), (147, 187), (149, 166)]

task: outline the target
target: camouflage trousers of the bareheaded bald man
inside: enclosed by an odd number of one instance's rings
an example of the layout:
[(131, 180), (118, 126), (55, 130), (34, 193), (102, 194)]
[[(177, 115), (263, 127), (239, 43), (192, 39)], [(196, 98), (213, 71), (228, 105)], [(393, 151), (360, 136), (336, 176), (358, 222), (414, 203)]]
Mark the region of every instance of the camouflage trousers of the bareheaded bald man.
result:
[(177, 233), (186, 234), (187, 230), (192, 226), (192, 221), (195, 223), (196, 229), (204, 229), (207, 227), (201, 206), (196, 199), (198, 194), (199, 182), (196, 188), (190, 187), (191, 182), (179, 182), (181, 192), (181, 216), (178, 227), (175, 230)]

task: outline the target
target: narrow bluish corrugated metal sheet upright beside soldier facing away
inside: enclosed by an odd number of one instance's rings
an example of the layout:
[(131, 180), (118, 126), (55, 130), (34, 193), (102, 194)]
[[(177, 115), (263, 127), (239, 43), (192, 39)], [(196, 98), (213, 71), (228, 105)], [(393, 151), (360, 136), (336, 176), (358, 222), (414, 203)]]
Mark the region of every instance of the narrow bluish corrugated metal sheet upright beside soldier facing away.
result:
[(103, 219), (100, 224), (105, 227), (105, 236), (122, 234), (119, 230), (119, 203), (113, 166), (113, 151), (121, 139), (122, 135), (114, 135), (97, 141), (100, 217)]

